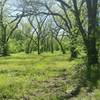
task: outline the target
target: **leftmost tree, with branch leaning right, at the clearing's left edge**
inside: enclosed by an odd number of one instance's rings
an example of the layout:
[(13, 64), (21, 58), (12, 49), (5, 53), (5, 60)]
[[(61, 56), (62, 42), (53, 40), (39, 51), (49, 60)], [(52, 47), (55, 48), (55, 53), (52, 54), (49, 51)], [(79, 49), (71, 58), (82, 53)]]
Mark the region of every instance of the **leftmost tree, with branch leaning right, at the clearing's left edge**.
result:
[[(7, 1), (8, 0), (2, 0), (0, 3), (0, 27), (1, 27), (1, 54), (2, 56), (7, 56), (8, 55), (8, 41), (10, 36), (13, 34), (15, 29), (18, 27), (18, 24), (20, 23), (23, 12), (20, 16), (16, 16), (14, 18), (10, 18), (5, 12), (6, 6), (7, 6)], [(16, 23), (15, 23), (16, 22)]]

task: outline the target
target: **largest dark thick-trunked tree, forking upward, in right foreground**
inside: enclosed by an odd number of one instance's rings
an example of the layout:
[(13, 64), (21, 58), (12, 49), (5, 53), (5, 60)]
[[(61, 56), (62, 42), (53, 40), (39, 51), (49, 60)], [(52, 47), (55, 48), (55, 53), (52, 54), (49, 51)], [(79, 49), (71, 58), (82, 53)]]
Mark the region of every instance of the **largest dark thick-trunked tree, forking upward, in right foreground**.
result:
[[(87, 50), (87, 58), (88, 58), (87, 77), (88, 77), (88, 80), (90, 80), (90, 81), (97, 80), (98, 68), (95, 68), (94, 65), (98, 64), (98, 51), (96, 48), (96, 25), (97, 25), (96, 17), (97, 17), (97, 10), (98, 10), (98, 8), (97, 8), (98, 0), (82, 0), (81, 3), (78, 2), (78, 0), (72, 0), (73, 7), (63, 0), (56, 0), (56, 1), (62, 3), (67, 9), (70, 9), (70, 11), (75, 16), (77, 26), (81, 32), (81, 35), (82, 35), (83, 41), (84, 41), (84, 45)], [(86, 7), (86, 9), (85, 9), (85, 7)], [(83, 21), (81, 18), (81, 16), (83, 16), (84, 10), (81, 8), (84, 8), (85, 13), (87, 12), (87, 15), (84, 14), (84, 21), (88, 22), (88, 24), (86, 24), (85, 26), (83, 26)], [(92, 68), (92, 67), (94, 67), (94, 68)], [(95, 72), (93, 72), (93, 69), (95, 69)], [(93, 77), (91, 77), (92, 72), (95, 74)]]

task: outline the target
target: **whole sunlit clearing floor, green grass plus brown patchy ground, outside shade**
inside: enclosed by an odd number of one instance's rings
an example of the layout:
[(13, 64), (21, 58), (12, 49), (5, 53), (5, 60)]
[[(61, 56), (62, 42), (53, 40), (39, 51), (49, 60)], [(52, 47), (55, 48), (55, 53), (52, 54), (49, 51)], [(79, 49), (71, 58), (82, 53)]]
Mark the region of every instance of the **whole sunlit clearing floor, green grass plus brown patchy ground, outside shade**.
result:
[[(67, 100), (63, 96), (77, 85), (74, 66), (81, 62), (60, 53), (1, 57), (0, 100)], [(100, 87), (70, 100), (100, 100)]]

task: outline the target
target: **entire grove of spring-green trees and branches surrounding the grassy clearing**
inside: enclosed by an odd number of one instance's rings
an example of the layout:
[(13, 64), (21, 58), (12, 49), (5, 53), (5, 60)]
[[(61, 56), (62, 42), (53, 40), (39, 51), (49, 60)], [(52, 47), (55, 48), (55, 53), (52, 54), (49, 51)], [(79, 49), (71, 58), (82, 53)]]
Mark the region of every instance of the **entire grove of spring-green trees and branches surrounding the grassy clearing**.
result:
[(92, 89), (100, 72), (99, 0), (11, 2), (0, 0), (0, 56), (56, 51), (70, 53), (70, 60), (81, 56), (86, 64), (83, 82), (91, 82)]

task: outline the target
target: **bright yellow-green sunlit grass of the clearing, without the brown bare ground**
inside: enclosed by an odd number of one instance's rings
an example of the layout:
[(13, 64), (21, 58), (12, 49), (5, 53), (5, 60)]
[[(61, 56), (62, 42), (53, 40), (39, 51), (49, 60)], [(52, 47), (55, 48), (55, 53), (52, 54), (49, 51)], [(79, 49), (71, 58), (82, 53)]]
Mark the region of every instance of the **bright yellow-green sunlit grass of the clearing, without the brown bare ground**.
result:
[[(20, 53), (1, 57), (0, 90), (2, 92), (0, 98), (16, 100), (28, 96), (32, 99), (38, 99), (39, 97), (31, 94), (32, 92), (37, 94), (37, 91), (40, 95), (44, 91), (43, 98), (48, 98), (54, 92), (50, 93), (49, 86), (55, 86), (56, 79), (59, 80), (57, 77), (63, 73), (60, 70), (65, 69), (66, 64), (68, 64), (66, 56), (59, 53), (42, 55)], [(56, 95), (53, 95), (52, 98), (55, 97)]]

